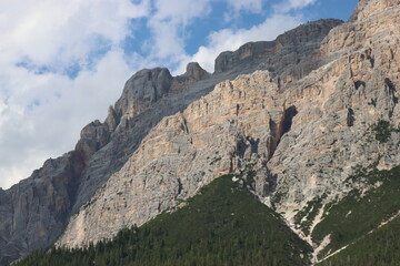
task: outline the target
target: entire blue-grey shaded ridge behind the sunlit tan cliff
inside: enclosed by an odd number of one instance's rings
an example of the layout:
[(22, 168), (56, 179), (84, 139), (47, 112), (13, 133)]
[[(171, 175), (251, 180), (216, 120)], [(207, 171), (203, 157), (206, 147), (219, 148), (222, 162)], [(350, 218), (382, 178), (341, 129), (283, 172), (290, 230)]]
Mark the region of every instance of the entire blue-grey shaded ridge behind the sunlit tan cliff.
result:
[[(217, 83), (242, 73), (269, 69), (271, 75), (282, 76), (289, 83), (299, 79), (293, 74), (294, 68), (288, 66), (291, 60), (317, 68), (314, 59), (319, 43), (330, 29), (340, 23), (338, 20), (321, 20), (301, 25), (281, 35), (286, 42), (279, 48), (276, 42), (267, 43), (267, 47), (277, 47), (273, 51), (254, 50), (258, 43), (247, 44), (240, 51), (229, 53), (231, 55), (227, 53), (224, 69), (217, 66), (213, 74), (202, 70), (198, 63), (188, 64), (187, 72), (179, 76), (171, 76), (167, 69), (136, 73), (126, 83), (120, 100), (110, 106), (104, 122), (94, 121), (82, 130), (73, 152), (49, 161), (53, 163), (46, 163), (28, 180), (0, 192), (0, 215), (3, 217), (0, 219), (0, 263), (51, 245), (71, 215), (92, 201), (90, 198), (98, 188), (126, 165), (143, 137), (163, 117), (183, 112), (189, 104), (212, 91)], [(287, 60), (279, 60), (281, 58)], [(220, 65), (219, 60), (216, 65)], [(311, 66), (301, 72), (307, 74)], [(209, 181), (204, 177), (203, 184)], [(198, 185), (193, 184), (193, 188), (183, 195), (192, 195), (197, 188)], [(43, 214), (37, 215), (39, 208)], [(151, 213), (149, 217), (153, 216), (153, 211), (147, 212)]]

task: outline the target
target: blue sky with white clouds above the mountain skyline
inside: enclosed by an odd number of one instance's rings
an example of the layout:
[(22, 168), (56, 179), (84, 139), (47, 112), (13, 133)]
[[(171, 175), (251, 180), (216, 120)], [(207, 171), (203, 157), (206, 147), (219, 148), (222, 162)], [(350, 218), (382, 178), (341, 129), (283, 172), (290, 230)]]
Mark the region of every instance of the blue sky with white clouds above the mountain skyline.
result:
[(300, 23), (347, 20), (357, 0), (2, 0), (0, 187), (73, 149), (142, 68), (213, 71), (222, 51)]

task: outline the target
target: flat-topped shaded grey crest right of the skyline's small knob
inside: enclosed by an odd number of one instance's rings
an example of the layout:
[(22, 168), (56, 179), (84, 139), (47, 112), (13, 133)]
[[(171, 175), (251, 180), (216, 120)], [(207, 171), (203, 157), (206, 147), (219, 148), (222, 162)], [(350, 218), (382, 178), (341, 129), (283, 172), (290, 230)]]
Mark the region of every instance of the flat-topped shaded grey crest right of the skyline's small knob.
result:
[(250, 42), (234, 52), (223, 52), (216, 60), (216, 73), (253, 64), (270, 71), (279, 86), (284, 88), (319, 66), (320, 57), (316, 52), (322, 39), (342, 22), (330, 19), (306, 23), (274, 41)]

